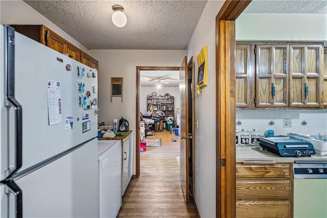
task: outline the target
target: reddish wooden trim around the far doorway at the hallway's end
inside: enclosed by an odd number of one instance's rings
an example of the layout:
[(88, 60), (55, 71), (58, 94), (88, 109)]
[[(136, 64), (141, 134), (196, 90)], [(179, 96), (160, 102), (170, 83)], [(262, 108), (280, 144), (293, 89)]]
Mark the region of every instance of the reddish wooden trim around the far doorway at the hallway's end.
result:
[(139, 176), (139, 122), (140, 111), (139, 111), (139, 89), (141, 87), (139, 76), (141, 70), (179, 70), (179, 67), (150, 67), (150, 66), (136, 66), (136, 126), (135, 126), (135, 175), (133, 178)]

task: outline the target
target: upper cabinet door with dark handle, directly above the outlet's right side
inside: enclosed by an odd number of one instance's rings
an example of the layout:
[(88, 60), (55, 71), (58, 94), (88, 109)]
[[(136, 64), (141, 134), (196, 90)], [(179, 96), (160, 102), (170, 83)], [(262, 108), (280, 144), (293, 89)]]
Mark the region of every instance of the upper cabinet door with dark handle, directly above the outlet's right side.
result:
[(321, 45), (290, 45), (290, 106), (320, 107)]

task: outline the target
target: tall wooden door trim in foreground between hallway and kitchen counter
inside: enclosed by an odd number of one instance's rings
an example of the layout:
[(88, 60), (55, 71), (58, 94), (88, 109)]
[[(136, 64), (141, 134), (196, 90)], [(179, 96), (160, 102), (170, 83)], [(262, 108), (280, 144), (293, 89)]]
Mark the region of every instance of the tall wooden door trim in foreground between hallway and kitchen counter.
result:
[(236, 216), (235, 20), (250, 2), (226, 1), (216, 16), (216, 217), (220, 218)]

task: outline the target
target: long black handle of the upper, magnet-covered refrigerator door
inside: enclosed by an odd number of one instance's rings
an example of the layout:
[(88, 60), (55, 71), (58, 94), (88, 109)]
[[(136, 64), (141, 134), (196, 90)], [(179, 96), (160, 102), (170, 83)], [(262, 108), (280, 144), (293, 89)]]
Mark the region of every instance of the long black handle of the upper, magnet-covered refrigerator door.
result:
[(15, 30), (6, 26), (5, 46), (7, 53), (6, 67), (6, 102), (5, 105), (15, 110), (15, 169), (7, 178), (13, 176), (22, 165), (22, 107), (15, 99)]

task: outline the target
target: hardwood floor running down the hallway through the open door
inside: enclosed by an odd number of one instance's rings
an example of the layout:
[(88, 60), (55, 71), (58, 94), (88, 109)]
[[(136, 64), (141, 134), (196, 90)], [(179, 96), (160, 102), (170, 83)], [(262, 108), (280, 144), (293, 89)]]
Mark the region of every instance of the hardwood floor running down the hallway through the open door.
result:
[(141, 152), (141, 175), (131, 179), (118, 217), (198, 217), (194, 204), (186, 206), (183, 198), (176, 159), (179, 137), (166, 129), (147, 137), (159, 138), (161, 147)]

